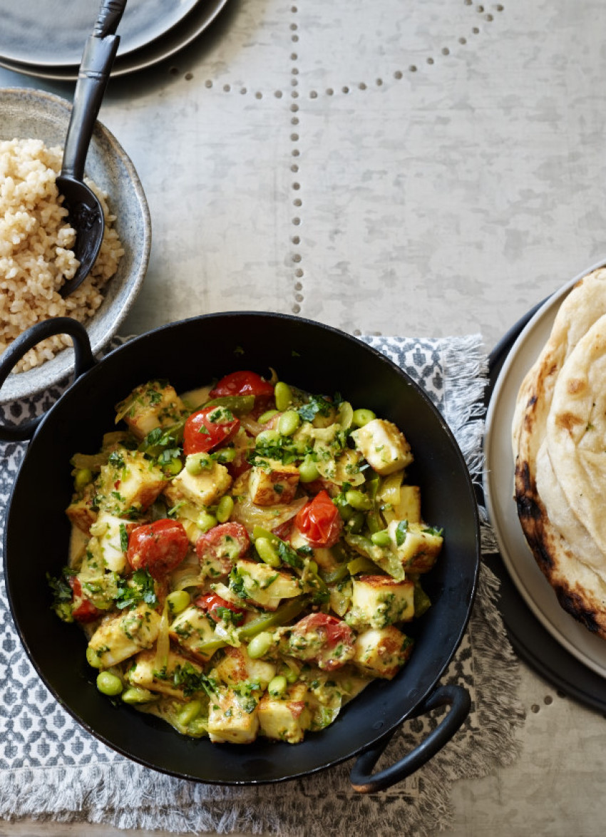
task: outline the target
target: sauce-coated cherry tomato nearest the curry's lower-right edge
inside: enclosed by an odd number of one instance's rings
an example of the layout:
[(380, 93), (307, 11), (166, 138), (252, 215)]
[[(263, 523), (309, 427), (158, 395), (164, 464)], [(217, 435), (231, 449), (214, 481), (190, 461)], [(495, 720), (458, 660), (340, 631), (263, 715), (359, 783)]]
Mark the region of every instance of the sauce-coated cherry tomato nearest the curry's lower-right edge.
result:
[(352, 659), (356, 637), (349, 625), (328, 614), (310, 614), (290, 632), (291, 653), (332, 671)]

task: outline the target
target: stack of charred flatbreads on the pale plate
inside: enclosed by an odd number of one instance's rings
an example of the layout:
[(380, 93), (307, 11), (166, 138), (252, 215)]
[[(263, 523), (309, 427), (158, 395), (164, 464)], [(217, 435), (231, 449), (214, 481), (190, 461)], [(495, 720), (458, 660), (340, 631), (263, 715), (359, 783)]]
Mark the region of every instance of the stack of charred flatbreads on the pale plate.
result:
[(526, 541), (562, 608), (606, 639), (606, 269), (562, 302), (511, 430)]

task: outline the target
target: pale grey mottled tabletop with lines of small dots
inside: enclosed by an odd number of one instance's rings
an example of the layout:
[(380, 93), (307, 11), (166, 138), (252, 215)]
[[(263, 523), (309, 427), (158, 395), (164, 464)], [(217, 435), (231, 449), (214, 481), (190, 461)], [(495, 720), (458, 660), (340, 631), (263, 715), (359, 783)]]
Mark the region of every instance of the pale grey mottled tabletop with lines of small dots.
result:
[[(125, 333), (251, 309), (490, 349), (606, 260), (604, 27), (598, 0), (229, 0), (101, 109), (153, 223)], [(0, 86), (74, 89), (10, 69)], [(603, 834), (602, 713), (524, 664), (520, 700), (520, 757), (454, 784), (449, 834)]]

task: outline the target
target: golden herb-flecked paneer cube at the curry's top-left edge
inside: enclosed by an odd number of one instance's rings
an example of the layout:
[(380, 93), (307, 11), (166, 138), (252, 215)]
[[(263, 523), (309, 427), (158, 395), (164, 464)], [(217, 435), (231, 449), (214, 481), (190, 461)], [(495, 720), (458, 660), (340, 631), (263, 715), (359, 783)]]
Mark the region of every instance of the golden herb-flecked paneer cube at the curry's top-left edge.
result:
[(116, 413), (116, 421), (124, 419), (136, 439), (143, 439), (151, 430), (177, 424), (187, 411), (170, 384), (150, 381), (116, 404)]

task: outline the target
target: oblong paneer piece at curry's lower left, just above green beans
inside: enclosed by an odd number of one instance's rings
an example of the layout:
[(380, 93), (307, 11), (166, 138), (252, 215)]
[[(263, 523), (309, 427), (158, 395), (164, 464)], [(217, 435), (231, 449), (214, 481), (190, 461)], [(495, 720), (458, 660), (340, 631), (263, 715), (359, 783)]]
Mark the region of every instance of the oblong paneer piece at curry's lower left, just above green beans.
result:
[(87, 658), (95, 661), (95, 668), (108, 669), (141, 649), (151, 648), (159, 628), (160, 615), (145, 603), (108, 615), (90, 638)]

